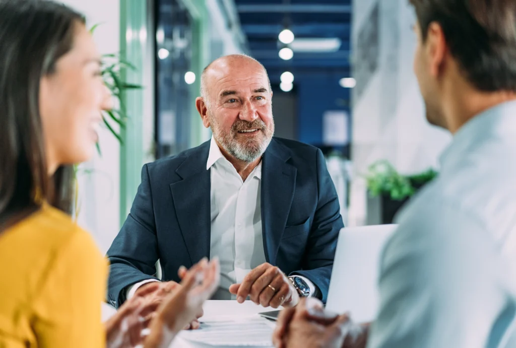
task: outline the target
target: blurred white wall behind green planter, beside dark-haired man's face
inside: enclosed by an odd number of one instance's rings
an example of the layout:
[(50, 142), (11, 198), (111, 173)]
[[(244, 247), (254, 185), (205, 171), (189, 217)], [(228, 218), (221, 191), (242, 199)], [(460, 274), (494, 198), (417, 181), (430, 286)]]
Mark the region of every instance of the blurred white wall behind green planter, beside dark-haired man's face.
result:
[[(401, 173), (438, 168), (449, 134), (430, 126), (413, 73), (416, 19), (406, 0), (355, 0), (352, 42), (357, 54), (359, 32), (379, 4), (379, 65), (363, 93), (353, 91), (353, 171), (349, 223), (366, 219), (366, 187), (360, 176), (369, 164), (388, 159)], [(354, 69), (361, 60), (354, 58)], [(359, 81), (358, 81), (359, 82)], [(360, 83), (360, 82), (359, 82)]]

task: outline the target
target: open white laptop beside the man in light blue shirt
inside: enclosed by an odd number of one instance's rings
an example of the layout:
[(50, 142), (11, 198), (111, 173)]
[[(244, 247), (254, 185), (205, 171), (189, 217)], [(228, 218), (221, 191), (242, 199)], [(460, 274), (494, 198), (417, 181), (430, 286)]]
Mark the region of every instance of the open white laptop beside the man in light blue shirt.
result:
[[(385, 242), (398, 225), (346, 227), (338, 235), (326, 310), (349, 312), (354, 322), (370, 322), (379, 307), (378, 277)], [(276, 320), (280, 311), (260, 315)]]

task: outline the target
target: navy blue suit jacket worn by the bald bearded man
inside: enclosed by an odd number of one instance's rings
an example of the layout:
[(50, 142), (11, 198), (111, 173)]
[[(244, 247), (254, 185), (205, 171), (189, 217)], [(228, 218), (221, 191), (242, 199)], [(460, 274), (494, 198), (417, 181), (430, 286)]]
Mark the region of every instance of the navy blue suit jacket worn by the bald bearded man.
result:
[[(108, 302), (155, 274), (180, 281), (210, 248), (210, 142), (143, 166), (141, 184), (120, 233), (107, 252)], [(321, 151), (273, 138), (262, 159), (262, 231), (267, 262), (310, 279), (325, 302), (338, 231), (343, 227), (333, 181)]]

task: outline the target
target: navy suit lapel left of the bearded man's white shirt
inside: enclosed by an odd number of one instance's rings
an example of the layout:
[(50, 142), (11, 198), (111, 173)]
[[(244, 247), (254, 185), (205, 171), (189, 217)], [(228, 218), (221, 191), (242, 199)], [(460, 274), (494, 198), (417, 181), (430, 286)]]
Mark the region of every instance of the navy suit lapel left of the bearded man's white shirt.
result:
[[(182, 178), (170, 185), (175, 214), (192, 264), (209, 257), (210, 245), (210, 171), (206, 170), (209, 142), (192, 153), (176, 169)], [(186, 265), (185, 266), (191, 266)]]

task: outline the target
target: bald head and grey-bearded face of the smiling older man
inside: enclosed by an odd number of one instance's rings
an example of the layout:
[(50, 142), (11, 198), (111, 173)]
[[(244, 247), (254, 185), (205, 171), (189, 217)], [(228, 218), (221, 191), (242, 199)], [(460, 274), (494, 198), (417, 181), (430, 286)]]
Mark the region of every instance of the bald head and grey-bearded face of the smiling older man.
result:
[(213, 65), (206, 72), (209, 107), (203, 123), (228, 154), (252, 162), (263, 155), (274, 134), (267, 74), (249, 58)]

